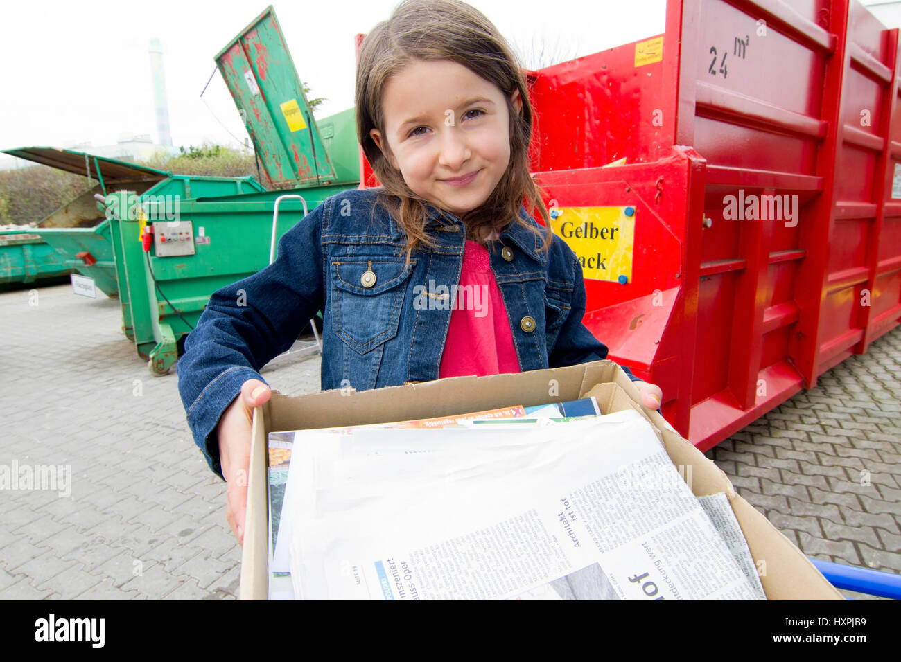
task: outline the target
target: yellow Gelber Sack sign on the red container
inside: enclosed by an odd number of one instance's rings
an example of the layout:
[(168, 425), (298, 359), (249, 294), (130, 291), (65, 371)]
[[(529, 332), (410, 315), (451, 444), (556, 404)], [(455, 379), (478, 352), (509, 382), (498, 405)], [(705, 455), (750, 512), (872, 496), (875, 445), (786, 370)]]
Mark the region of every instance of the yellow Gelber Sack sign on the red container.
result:
[(551, 228), (569, 244), (589, 280), (632, 282), (635, 208), (566, 207), (557, 210)]

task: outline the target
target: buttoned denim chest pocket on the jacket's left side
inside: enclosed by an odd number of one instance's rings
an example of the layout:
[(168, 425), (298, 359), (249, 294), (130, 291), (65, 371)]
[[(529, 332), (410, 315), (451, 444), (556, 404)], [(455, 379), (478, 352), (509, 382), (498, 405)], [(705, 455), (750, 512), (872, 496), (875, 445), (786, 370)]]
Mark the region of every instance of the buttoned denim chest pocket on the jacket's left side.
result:
[(350, 348), (366, 354), (397, 335), (414, 265), (386, 256), (332, 260), (332, 325)]

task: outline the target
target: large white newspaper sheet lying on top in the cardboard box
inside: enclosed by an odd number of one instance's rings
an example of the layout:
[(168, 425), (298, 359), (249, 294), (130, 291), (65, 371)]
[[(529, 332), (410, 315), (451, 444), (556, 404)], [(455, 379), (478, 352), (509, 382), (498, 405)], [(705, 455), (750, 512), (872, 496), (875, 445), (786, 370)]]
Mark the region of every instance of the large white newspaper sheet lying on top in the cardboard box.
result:
[(631, 410), (300, 431), (287, 481), (299, 598), (762, 597)]

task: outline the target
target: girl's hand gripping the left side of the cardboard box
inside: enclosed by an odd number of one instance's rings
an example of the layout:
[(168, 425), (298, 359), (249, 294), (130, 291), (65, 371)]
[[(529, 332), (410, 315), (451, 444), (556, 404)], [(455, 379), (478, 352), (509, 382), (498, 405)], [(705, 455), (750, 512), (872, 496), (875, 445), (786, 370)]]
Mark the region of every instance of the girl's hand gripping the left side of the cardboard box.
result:
[(247, 479), (250, 474), (250, 423), (253, 409), (268, 401), (272, 391), (259, 379), (248, 379), (241, 394), (223, 412), (216, 426), (219, 462), (228, 484), (226, 517), (234, 537), (244, 544), (244, 519), (247, 515)]

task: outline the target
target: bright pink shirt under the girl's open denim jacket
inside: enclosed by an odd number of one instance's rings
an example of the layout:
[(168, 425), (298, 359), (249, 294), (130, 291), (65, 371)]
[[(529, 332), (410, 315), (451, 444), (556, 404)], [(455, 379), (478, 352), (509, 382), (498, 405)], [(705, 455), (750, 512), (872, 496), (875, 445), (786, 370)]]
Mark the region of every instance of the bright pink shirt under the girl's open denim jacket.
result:
[(477, 241), (466, 242), (460, 287), (453, 298), (438, 376), (519, 372), (510, 319), (491, 270), (488, 249)]

